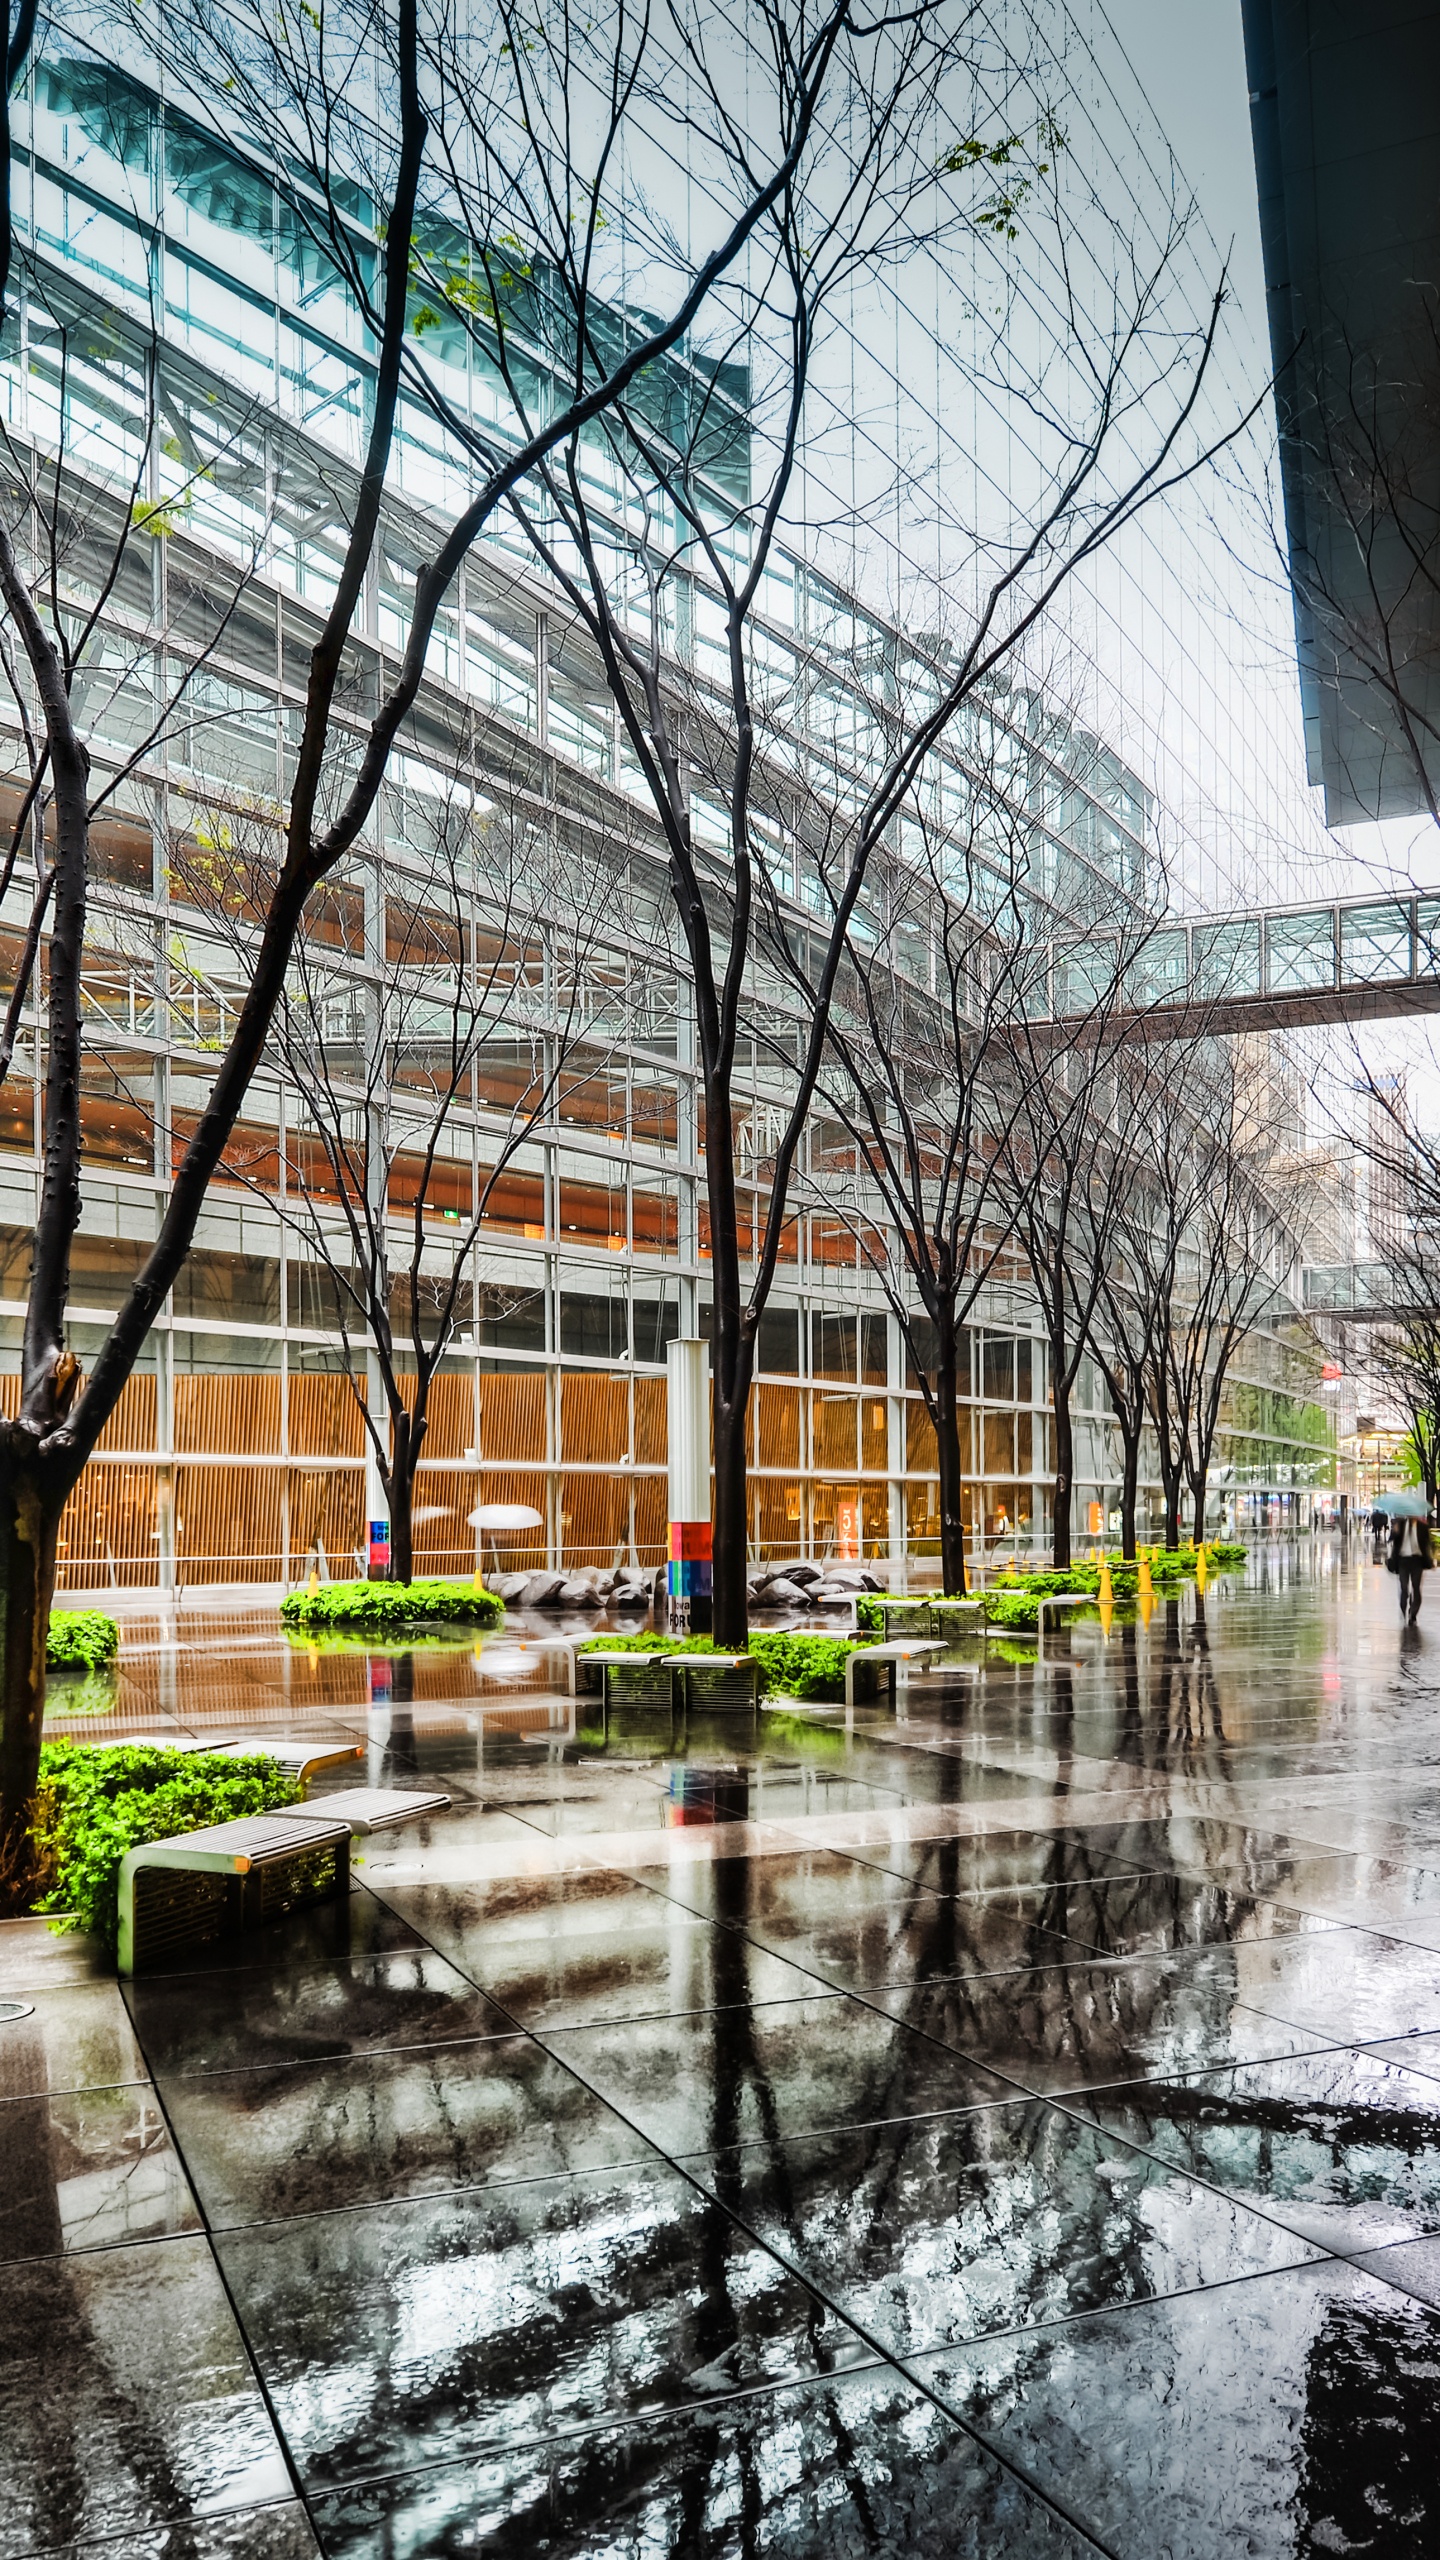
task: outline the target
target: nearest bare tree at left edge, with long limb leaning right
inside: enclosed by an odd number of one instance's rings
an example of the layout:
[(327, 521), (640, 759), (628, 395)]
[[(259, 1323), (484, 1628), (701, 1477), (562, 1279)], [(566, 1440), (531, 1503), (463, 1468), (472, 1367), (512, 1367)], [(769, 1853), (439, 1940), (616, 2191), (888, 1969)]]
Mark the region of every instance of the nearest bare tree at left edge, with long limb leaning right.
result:
[[(843, 13), (840, 13), (843, 15)], [(343, 23), (341, 23), (343, 20)], [(18, 77), (33, 38), (33, 13), (15, 20), (8, 72)], [(356, 474), (333, 471), (341, 486), (343, 540), (336, 584), (320, 637), (310, 653), (305, 712), (295, 740), (282, 809), (282, 860), (266, 909), (254, 919), (254, 945), (246, 986), (218, 1057), (208, 1101), (197, 1114), (172, 1178), (159, 1221), (159, 1236), (120, 1313), (82, 1382), (79, 1362), (67, 1347), (69, 1247), (79, 1224), (79, 1083), (82, 1083), (82, 980), (87, 957), (87, 888), (92, 786), (85, 737), (82, 676), (100, 653), (90, 599), (74, 612), (61, 581), (49, 576), (46, 545), (33, 540), (28, 492), (0, 522), (0, 602), (8, 645), (23, 668), (28, 717), (36, 735), (36, 765), (46, 773), (49, 840), (46, 863), (54, 883), (46, 888), (44, 932), (44, 1170), (36, 1216), (36, 1244), (23, 1341), (20, 1411), (0, 1428), (0, 1587), (5, 1595), (5, 1667), (0, 1695), (0, 1841), (23, 1836), (33, 1797), (41, 1713), (49, 1603), (56, 1572), (56, 1539), (64, 1505), (79, 1472), (113, 1416), (126, 1380), (141, 1354), (149, 1329), (164, 1306), (177, 1272), (190, 1254), (210, 1180), (233, 1137), (246, 1091), (264, 1060), (274, 1016), (282, 1004), (297, 937), (310, 901), (328, 873), (359, 847), (372, 822), (392, 750), (413, 714), (436, 620), (471, 545), (495, 522), (497, 509), (530, 479), (546, 453), (571, 445), (602, 412), (638, 381), (648, 364), (676, 348), (715, 284), (743, 256), (746, 243), (787, 195), (805, 154), (805, 133), (781, 133), (743, 166), (712, 248), (689, 274), (676, 279), (664, 317), (643, 317), (620, 343), (600, 346), (582, 338), (584, 356), (574, 379), (546, 399), (546, 415), (528, 420), (500, 445), (484, 448), (471, 474), (471, 494), (446, 530), (436, 532), (433, 556), (407, 599), (397, 655), (369, 724), (359, 740), (336, 722), (346, 645), (364, 602), (366, 576), (377, 553), (392, 481), (397, 471), (397, 415), (402, 384), (425, 381), (423, 346), (415, 338), (415, 261), (420, 256), (423, 215), (430, 200), (454, 189), (446, 154), (436, 148), (443, 133), (443, 97), (430, 54), (420, 46), (418, 0), (397, 0), (395, 15), (346, 8), (320, 15), (307, 0), (282, 0), (279, 10), (241, 8), (233, 13), (177, 8), (156, 28), (169, 67), (184, 74), (190, 92), (213, 113), (225, 100), (246, 146), (266, 154), (290, 205), (290, 218), (310, 236), (333, 271), (351, 289), (372, 333), (369, 404), (364, 461)], [(615, 79), (602, 87), (597, 141), (582, 161), (566, 166), (561, 228), (571, 241), (594, 238), (605, 220), (612, 151), (633, 95), (630, 20), (612, 28)], [(379, 84), (377, 84), (379, 69)], [(525, 59), (515, 51), (489, 61), (489, 102), (523, 115)], [(466, 100), (466, 110), (474, 97)], [(305, 169), (307, 138), (320, 138), (310, 154), (313, 189), (297, 189), (292, 177)], [(372, 187), (382, 207), (366, 238), (356, 236), (356, 179)], [(5, 187), (10, 161), (5, 164)], [(487, 220), (484, 238), (500, 230)], [(377, 248), (379, 233), (379, 248)], [(0, 269), (0, 302), (8, 302), (15, 251), (5, 210), (0, 246), (10, 264)], [(56, 468), (54, 458), (49, 468)], [(126, 509), (126, 527), (131, 512)], [(126, 540), (131, 530), (126, 530)], [(79, 630), (79, 653), (74, 643)], [(41, 883), (46, 886), (46, 883)]]

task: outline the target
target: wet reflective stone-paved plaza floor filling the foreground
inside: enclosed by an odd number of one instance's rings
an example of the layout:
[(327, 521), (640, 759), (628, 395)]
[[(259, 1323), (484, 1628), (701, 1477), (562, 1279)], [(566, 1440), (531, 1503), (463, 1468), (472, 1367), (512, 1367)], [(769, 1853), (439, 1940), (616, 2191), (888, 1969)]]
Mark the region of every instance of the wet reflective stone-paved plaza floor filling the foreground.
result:
[(454, 1805), (126, 1989), (0, 1928), (0, 2555), (1432, 2555), (1440, 1585), (758, 1736), (541, 1633), (56, 1692)]

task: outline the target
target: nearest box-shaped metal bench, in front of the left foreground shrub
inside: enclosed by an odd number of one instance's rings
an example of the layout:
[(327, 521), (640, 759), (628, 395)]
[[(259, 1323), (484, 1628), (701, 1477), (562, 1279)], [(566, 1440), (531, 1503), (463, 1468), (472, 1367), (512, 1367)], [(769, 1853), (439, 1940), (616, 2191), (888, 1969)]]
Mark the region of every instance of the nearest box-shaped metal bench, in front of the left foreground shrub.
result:
[(120, 1859), (120, 1974), (348, 1892), (351, 1823), (305, 1807), (143, 1841)]

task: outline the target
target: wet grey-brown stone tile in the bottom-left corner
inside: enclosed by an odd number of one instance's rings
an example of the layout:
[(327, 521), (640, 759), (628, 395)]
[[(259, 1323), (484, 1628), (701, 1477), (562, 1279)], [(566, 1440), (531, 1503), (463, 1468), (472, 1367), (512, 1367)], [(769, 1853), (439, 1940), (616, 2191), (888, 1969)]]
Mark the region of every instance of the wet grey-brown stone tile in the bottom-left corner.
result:
[(0, 2268), (0, 2445), (3, 2552), (292, 2493), (200, 2237)]

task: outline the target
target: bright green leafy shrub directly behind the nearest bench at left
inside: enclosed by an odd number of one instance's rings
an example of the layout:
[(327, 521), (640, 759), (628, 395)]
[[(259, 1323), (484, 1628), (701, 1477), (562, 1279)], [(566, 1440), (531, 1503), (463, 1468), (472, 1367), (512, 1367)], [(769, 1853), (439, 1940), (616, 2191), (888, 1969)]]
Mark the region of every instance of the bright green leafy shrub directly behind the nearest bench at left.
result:
[(38, 1910), (59, 1912), (59, 1928), (85, 1928), (115, 1946), (128, 1848), (297, 1802), (300, 1784), (264, 1751), (215, 1759), (146, 1743), (46, 1743), (31, 1833), (49, 1876)]

